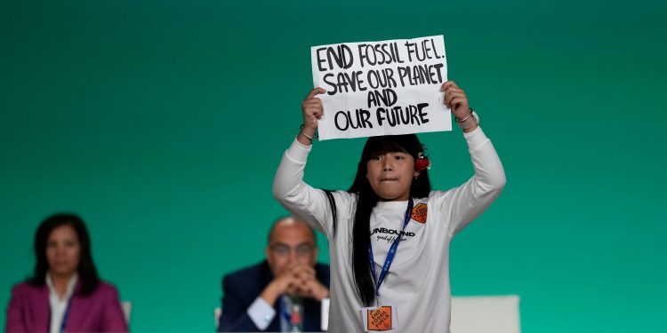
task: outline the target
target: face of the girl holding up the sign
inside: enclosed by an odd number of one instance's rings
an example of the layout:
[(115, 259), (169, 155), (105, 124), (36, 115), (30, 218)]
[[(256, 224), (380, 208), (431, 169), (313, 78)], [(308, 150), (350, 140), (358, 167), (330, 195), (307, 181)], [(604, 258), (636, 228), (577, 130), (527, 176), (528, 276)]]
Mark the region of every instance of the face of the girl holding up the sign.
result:
[(414, 170), (414, 158), (405, 152), (387, 152), (372, 155), (366, 163), (366, 178), (381, 201), (406, 201), (410, 198)]

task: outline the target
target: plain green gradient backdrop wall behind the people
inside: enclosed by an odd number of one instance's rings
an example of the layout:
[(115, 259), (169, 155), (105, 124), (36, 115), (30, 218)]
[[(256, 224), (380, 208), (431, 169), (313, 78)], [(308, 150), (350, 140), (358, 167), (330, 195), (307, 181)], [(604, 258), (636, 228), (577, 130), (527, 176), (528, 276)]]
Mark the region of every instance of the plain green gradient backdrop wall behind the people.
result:
[[(2, 0), (0, 303), (39, 221), (69, 210), (134, 331), (213, 330), (222, 274), (259, 261), (285, 214), (271, 180), (309, 47), (443, 34), (508, 178), (453, 242), (454, 295), (518, 294), (528, 333), (667, 332), (666, 16), (657, 0)], [(422, 139), (436, 187), (470, 177), (459, 131)], [(316, 142), (307, 181), (349, 186), (362, 144)]]

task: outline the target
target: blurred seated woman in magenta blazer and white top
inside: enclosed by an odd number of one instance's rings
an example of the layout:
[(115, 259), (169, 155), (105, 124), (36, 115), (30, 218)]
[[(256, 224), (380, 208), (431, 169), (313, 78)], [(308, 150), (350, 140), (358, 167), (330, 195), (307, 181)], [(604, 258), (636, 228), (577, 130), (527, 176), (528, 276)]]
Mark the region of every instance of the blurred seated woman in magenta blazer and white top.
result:
[(12, 288), (6, 332), (126, 332), (117, 289), (100, 281), (84, 221), (46, 218), (35, 235), (35, 273)]

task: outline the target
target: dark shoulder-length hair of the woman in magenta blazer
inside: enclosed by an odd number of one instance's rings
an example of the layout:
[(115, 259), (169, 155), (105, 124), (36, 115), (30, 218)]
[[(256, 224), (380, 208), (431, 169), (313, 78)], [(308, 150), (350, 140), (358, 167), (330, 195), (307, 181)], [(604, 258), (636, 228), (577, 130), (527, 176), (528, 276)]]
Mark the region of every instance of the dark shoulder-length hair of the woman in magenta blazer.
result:
[(34, 286), (44, 286), (46, 283), (46, 272), (49, 270), (49, 262), (46, 260), (46, 242), (53, 229), (59, 226), (72, 226), (78, 236), (80, 255), (79, 265), (76, 267), (81, 289), (79, 293), (83, 296), (90, 295), (100, 283), (95, 264), (92, 262), (91, 240), (84, 221), (74, 214), (60, 213), (44, 219), (37, 227), (35, 234), (35, 274), (28, 279), (28, 283)]

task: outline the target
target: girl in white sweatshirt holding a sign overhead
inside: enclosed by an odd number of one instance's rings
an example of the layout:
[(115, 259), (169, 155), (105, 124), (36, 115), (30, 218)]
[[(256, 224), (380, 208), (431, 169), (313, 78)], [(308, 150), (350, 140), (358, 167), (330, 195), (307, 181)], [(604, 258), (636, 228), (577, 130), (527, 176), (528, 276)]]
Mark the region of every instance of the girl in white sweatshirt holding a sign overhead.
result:
[(328, 238), (330, 331), (449, 329), (449, 243), (494, 202), (505, 175), (465, 92), (452, 81), (441, 90), (475, 170), (467, 182), (447, 191), (431, 191), (430, 161), (414, 134), (367, 139), (348, 191), (309, 186), (303, 173), (324, 114), (317, 94), (325, 90), (313, 89), (301, 104), (303, 128), (283, 156), (273, 193)]

